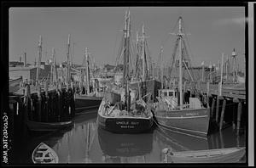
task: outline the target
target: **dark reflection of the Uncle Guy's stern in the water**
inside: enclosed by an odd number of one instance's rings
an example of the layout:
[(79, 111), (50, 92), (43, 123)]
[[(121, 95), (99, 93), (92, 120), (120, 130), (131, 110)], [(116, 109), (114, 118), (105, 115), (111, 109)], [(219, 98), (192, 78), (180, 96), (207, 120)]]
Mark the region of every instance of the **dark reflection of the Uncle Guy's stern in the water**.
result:
[(153, 134), (115, 134), (98, 127), (98, 140), (107, 163), (145, 162), (145, 155), (152, 151)]

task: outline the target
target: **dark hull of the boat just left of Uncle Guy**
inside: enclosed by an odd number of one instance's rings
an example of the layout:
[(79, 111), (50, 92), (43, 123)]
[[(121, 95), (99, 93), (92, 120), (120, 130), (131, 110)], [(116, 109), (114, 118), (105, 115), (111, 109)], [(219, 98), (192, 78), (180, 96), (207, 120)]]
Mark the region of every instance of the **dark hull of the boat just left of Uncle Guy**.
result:
[(93, 97), (86, 95), (76, 95), (75, 97), (75, 111), (80, 113), (87, 109), (96, 109), (100, 106), (103, 97)]

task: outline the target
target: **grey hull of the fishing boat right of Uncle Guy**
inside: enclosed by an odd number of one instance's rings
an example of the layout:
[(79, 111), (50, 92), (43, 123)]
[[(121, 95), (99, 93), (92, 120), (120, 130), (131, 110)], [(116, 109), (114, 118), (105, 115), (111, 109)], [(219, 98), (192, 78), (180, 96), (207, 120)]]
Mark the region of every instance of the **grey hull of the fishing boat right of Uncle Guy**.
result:
[(160, 126), (175, 132), (207, 137), (210, 109), (156, 110), (155, 119)]

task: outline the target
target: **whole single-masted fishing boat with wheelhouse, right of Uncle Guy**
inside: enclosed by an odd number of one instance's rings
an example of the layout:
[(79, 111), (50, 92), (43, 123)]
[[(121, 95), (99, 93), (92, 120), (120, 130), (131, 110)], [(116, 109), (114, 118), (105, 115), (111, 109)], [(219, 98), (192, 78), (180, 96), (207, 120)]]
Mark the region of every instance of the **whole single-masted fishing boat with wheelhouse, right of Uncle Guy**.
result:
[[(182, 48), (182, 43), (185, 46), (185, 42), (183, 40), (184, 33), (181, 17), (178, 19), (178, 25), (175, 51), (179, 47), (179, 59), (175, 60), (174, 57), (173, 62), (177, 61), (178, 63), (179, 85), (178, 87), (161, 88), (159, 90), (158, 102), (154, 104), (154, 116), (160, 126), (185, 134), (206, 137), (210, 120), (209, 107), (204, 107), (200, 98), (184, 96), (183, 67), (187, 70), (189, 69), (183, 58), (185, 47)], [(175, 55), (173, 54), (173, 56)], [(189, 75), (193, 81), (190, 73)]]

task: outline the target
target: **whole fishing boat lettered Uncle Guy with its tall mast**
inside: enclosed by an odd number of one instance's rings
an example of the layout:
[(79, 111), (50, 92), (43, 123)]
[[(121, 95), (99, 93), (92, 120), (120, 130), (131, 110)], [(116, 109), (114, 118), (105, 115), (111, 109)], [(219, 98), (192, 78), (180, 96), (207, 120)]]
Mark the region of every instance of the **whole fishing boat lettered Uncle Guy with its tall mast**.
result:
[(98, 126), (116, 133), (148, 132), (154, 123), (151, 109), (130, 87), (130, 27), (129, 11), (125, 13), (124, 46), (120, 50), (124, 55), (123, 83), (121, 87), (112, 87), (106, 92), (97, 115)]

